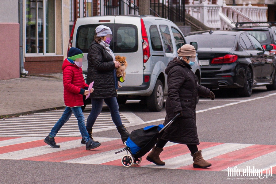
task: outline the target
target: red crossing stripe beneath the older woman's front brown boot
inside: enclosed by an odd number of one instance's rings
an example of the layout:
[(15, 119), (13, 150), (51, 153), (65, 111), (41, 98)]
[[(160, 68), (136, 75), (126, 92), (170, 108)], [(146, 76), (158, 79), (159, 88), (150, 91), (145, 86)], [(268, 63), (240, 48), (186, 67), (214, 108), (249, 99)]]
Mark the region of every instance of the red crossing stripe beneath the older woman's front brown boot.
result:
[(212, 166), (206, 169), (194, 168), (193, 165), (180, 167), (178, 169), (187, 170), (206, 170), (206, 171), (222, 171), (228, 167), (236, 166), (240, 163), (255, 159), (259, 156), (266, 155), (276, 151), (276, 145), (259, 145), (255, 144), (247, 148), (242, 148), (236, 151), (231, 151), (223, 155), (216, 156), (207, 161), (212, 163)]

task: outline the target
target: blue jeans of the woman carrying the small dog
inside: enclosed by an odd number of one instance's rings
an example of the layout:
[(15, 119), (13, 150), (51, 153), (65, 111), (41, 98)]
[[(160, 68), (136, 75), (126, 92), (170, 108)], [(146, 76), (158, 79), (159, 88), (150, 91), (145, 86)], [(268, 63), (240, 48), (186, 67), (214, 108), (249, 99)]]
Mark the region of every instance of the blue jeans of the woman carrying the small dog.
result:
[(117, 103), (116, 97), (105, 98), (105, 99), (92, 98), (91, 99), (92, 110), (86, 121), (87, 128), (93, 127), (97, 117), (102, 112), (103, 102), (105, 102), (105, 104), (108, 106), (111, 113), (112, 121), (116, 125), (116, 127), (123, 125), (119, 114), (119, 105)]

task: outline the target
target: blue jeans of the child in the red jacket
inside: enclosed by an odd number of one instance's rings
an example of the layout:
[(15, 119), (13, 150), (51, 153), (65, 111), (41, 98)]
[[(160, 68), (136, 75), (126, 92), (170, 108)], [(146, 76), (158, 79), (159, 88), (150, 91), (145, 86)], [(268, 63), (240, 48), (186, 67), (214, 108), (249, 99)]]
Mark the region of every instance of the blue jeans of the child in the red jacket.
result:
[(82, 113), (81, 107), (66, 107), (62, 116), (56, 122), (56, 124), (54, 125), (54, 127), (52, 128), (49, 134), (50, 136), (55, 137), (56, 134), (59, 132), (60, 128), (69, 120), (72, 113), (74, 113), (75, 117), (77, 118), (79, 131), (82, 134), (83, 140), (85, 141), (85, 143), (87, 143), (90, 140), (90, 138), (85, 127), (85, 118)]

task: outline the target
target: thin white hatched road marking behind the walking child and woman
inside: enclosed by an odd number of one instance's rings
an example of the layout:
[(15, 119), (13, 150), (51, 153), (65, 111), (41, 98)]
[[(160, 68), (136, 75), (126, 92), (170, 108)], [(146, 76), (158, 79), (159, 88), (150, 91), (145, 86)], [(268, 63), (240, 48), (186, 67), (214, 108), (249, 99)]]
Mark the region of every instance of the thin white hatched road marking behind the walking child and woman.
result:
[[(62, 116), (64, 110), (53, 110), (44, 113), (34, 113), (25, 116), (12, 117), (9, 119), (0, 119), (0, 136), (46, 136), (52, 127)], [(89, 107), (83, 112), (85, 121), (90, 114)], [(122, 123), (127, 126), (130, 121), (120, 113)], [(102, 113), (98, 116), (93, 132), (106, 128), (115, 129), (111, 114), (107, 106), (104, 106)], [(59, 135), (66, 136), (69, 134), (79, 135), (78, 121), (74, 114), (63, 125)]]

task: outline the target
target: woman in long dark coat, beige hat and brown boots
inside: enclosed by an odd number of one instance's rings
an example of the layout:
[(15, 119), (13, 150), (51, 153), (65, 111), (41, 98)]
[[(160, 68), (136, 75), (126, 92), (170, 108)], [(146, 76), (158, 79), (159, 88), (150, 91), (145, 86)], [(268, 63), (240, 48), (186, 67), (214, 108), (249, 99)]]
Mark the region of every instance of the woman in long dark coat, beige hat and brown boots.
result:
[(177, 118), (164, 132), (160, 141), (152, 148), (147, 160), (156, 165), (165, 165), (159, 155), (168, 141), (186, 144), (194, 159), (194, 167), (206, 168), (212, 164), (202, 158), (196, 125), (196, 104), (197, 96), (215, 99), (215, 95), (208, 88), (200, 86), (196, 75), (191, 70), (195, 62), (196, 50), (190, 44), (183, 45), (178, 50), (178, 57), (175, 57), (168, 64), (165, 73), (167, 74), (168, 98), (166, 101), (166, 125), (176, 114)]

